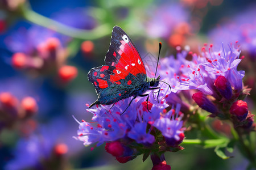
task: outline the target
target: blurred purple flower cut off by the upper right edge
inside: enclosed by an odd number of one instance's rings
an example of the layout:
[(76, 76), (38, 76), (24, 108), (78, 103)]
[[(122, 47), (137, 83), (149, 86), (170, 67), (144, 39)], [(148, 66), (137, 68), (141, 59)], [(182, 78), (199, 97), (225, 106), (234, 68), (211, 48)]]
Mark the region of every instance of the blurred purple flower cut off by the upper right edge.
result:
[[(214, 44), (238, 41), (241, 49), (255, 59), (256, 54), (256, 19), (255, 6), (239, 12), (225, 23), (221, 23), (209, 32), (209, 40)], [(238, 46), (238, 45), (237, 45)]]

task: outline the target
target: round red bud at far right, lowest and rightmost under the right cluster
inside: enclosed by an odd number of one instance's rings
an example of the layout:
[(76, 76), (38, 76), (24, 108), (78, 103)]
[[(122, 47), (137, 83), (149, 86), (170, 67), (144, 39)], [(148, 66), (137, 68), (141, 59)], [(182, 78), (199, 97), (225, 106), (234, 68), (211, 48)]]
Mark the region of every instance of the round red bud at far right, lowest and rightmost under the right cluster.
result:
[(230, 114), (236, 116), (238, 120), (243, 121), (248, 114), (248, 106), (245, 101), (235, 101), (229, 109)]

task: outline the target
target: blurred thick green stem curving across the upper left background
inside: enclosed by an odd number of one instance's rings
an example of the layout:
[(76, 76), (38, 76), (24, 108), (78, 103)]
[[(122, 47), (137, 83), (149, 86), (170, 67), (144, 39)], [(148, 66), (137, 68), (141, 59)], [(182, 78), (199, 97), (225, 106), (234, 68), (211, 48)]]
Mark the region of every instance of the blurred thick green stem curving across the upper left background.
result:
[(73, 37), (80, 40), (95, 40), (111, 33), (112, 28), (109, 24), (102, 24), (92, 30), (78, 29), (69, 27), (68, 25), (56, 22), (49, 19), (46, 16), (40, 15), (37, 12), (31, 10), (28, 4), (23, 5), (21, 8), (21, 15), (24, 19), (34, 24), (41, 25), (53, 31), (59, 32), (63, 35)]

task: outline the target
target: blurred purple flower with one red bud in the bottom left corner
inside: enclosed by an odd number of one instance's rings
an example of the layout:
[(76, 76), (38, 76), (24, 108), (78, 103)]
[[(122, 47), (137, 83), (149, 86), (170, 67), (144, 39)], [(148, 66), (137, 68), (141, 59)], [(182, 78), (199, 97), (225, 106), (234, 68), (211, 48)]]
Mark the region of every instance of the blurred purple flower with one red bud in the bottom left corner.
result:
[(52, 119), (49, 124), (40, 125), (34, 134), (19, 139), (13, 151), (14, 158), (5, 168), (46, 169), (51, 161), (58, 163), (57, 166), (63, 165), (61, 163), (64, 159), (61, 156), (77, 154), (81, 146), (74, 144), (76, 141), (68, 135), (73, 132), (70, 126), (63, 124), (64, 121), (63, 118)]

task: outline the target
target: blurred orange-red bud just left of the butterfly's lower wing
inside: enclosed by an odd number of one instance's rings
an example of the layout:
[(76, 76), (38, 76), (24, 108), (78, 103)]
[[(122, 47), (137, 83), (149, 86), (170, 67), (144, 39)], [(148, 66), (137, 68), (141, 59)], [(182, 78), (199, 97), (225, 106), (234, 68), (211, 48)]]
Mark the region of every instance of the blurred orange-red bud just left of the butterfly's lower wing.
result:
[(77, 68), (74, 66), (62, 66), (59, 69), (59, 76), (64, 82), (69, 82), (77, 76)]

